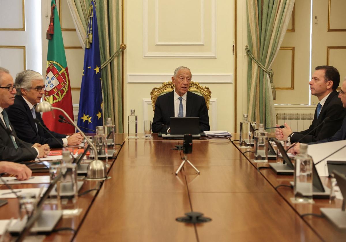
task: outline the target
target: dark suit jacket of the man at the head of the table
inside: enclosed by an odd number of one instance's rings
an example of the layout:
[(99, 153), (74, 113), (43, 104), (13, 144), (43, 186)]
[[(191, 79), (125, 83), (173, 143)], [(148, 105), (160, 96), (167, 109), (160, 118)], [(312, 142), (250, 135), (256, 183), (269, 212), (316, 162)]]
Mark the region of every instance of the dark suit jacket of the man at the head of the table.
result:
[[(170, 127), (171, 117), (174, 117), (173, 92), (174, 90), (156, 99), (152, 124), (153, 133), (166, 132), (166, 126), (162, 126), (162, 124), (167, 125), (167, 128)], [(206, 100), (190, 91), (186, 95), (186, 117), (199, 117), (200, 132), (210, 129)]]

